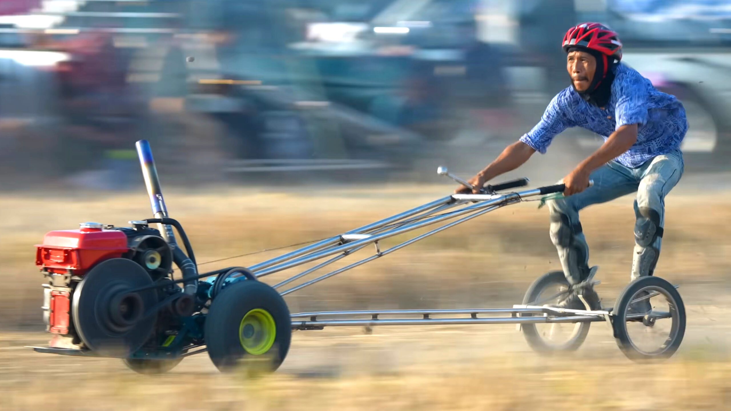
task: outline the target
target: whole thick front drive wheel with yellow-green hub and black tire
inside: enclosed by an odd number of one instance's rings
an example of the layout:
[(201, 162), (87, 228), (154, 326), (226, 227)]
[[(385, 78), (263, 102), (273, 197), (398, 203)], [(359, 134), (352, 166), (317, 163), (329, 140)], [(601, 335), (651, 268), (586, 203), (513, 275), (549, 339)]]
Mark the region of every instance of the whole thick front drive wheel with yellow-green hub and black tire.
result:
[(289, 351), (292, 320), (268, 284), (243, 280), (221, 290), (205, 320), (208, 355), (221, 372), (273, 372)]

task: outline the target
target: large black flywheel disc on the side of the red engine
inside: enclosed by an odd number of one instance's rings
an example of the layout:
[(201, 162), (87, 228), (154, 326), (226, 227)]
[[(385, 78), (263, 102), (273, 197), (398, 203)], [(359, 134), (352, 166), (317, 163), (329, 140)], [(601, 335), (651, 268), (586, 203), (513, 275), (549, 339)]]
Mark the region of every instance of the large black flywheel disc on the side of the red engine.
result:
[(147, 271), (126, 258), (106, 260), (76, 287), (72, 317), (81, 340), (100, 355), (124, 357), (150, 337), (156, 315), (144, 317), (157, 302), (155, 290), (129, 293), (152, 284)]

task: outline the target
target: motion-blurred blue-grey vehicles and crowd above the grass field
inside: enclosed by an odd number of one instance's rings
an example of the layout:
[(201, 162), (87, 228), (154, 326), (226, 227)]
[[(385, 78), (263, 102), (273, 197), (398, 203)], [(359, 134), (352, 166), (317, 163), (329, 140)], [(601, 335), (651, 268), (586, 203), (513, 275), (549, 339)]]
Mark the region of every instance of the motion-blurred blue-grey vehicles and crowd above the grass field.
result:
[[(0, 188), (137, 188), (140, 138), (168, 184), (471, 174), (569, 85), (559, 43), (585, 20), (683, 100), (689, 170), (731, 151), (729, 1), (3, 0), (0, 15)], [(602, 141), (556, 140), (571, 162)]]

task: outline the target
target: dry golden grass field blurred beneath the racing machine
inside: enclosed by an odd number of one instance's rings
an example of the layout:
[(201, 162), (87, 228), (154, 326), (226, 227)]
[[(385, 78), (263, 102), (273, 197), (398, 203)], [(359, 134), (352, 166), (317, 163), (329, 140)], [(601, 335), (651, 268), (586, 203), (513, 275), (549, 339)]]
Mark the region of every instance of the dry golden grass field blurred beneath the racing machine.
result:
[[(199, 263), (337, 234), (450, 192), (381, 186), (274, 193), (165, 192)], [(127, 225), (150, 216), (144, 192), (0, 197), (0, 410), (724, 410), (731, 409), (727, 278), (731, 195), (667, 198), (656, 274), (681, 284), (688, 329), (670, 361), (632, 363), (602, 323), (583, 347), (544, 358), (512, 325), (297, 331), (287, 361), (257, 380), (219, 374), (203, 355), (162, 376), (121, 361), (45, 355), (42, 276), (34, 244), (79, 222)], [(597, 291), (613, 305), (629, 280), (632, 197), (583, 211)], [(396, 244), (405, 238), (392, 238)], [(286, 251), (286, 250), (284, 250)], [(251, 265), (282, 250), (202, 265)], [(358, 254), (365, 253), (366, 249)], [(370, 252), (370, 251), (368, 251)], [(366, 254), (363, 254), (365, 257)], [(345, 265), (358, 256), (342, 260)], [(519, 303), (531, 281), (558, 268), (548, 212), (501, 208), (373, 263), (287, 295), (312, 309), (492, 308)], [(336, 267), (333, 267), (333, 269)], [(273, 284), (286, 274), (265, 277)]]

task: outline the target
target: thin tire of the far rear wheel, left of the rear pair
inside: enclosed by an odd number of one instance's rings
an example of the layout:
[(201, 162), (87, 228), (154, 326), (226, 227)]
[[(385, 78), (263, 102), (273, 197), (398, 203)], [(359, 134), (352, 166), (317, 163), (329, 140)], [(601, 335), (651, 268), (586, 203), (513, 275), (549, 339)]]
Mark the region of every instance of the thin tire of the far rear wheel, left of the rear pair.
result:
[[(539, 276), (533, 284), (531, 284), (526, 291), (526, 295), (523, 296), (523, 305), (529, 305), (531, 302), (534, 302), (536, 298), (538, 298), (538, 295), (540, 295), (541, 291), (550, 284), (565, 284), (568, 286), (569, 282), (564, 275), (564, 271), (549, 271), (548, 273)], [(577, 306), (575, 308), (586, 309), (584, 306)], [(534, 314), (521, 314), (520, 317), (533, 317), (533, 315)], [(541, 355), (553, 355), (556, 352), (575, 351), (581, 347), (581, 344), (583, 344), (586, 339), (590, 326), (591, 323), (582, 323), (578, 338), (574, 339), (571, 344), (561, 348), (543, 342), (535, 324), (523, 324), (521, 325), (520, 330), (523, 331), (523, 336), (525, 336), (526, 342), (528, 342), (529, 346), (535, 352), (538, 352)]]

